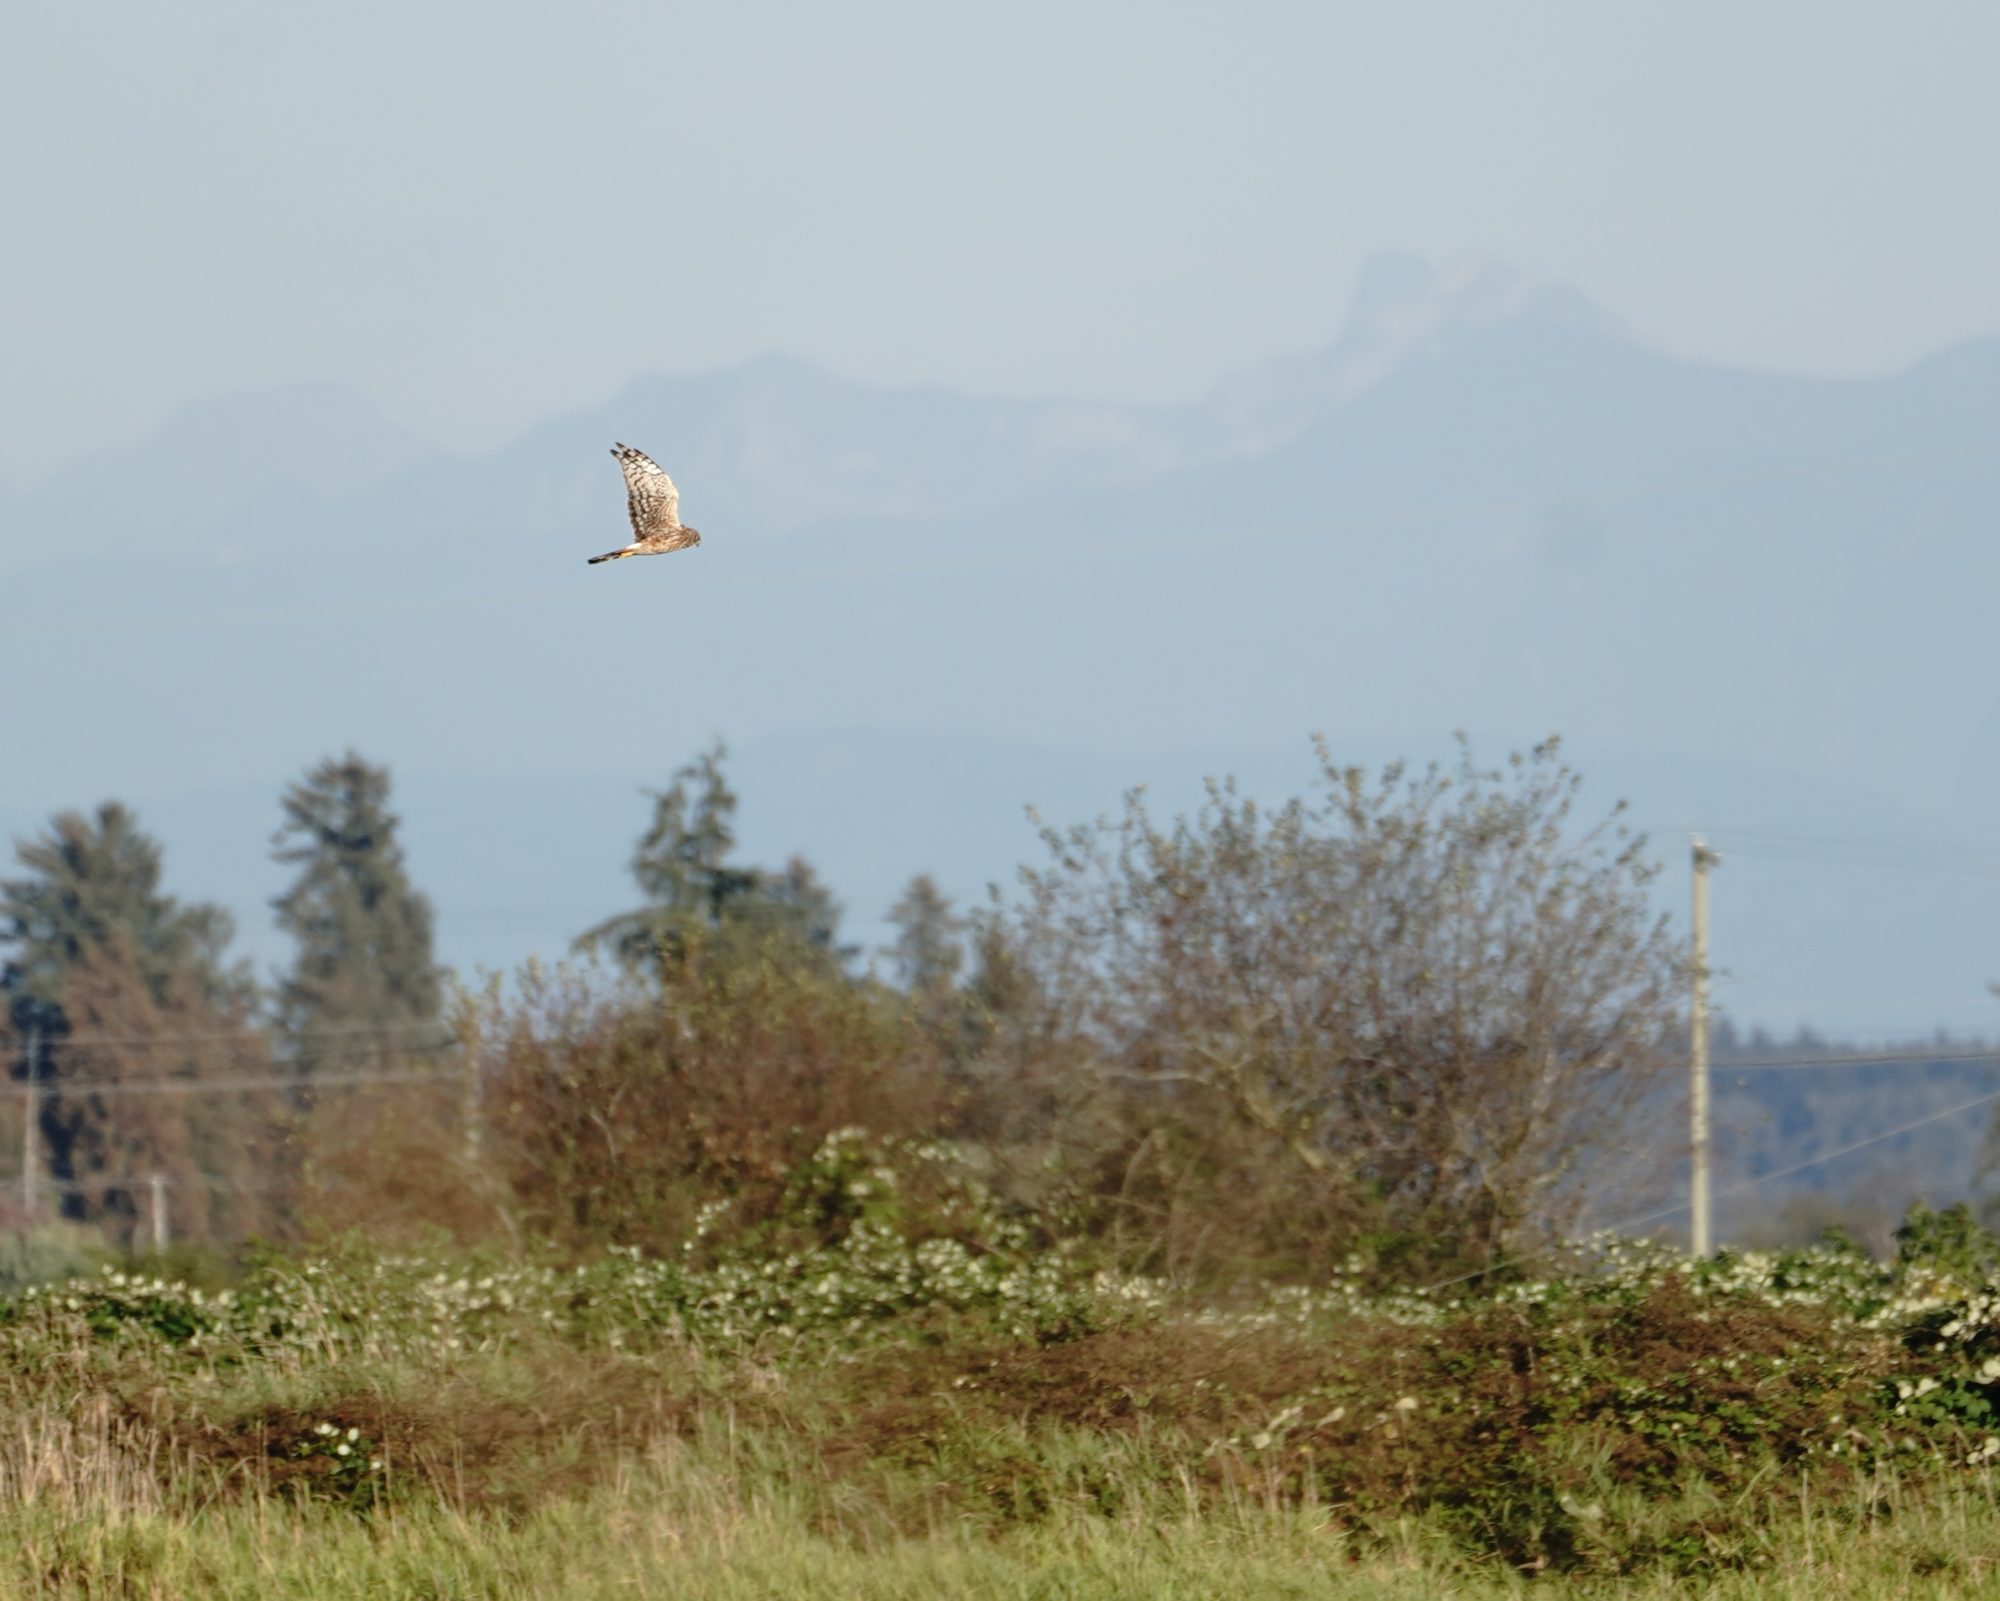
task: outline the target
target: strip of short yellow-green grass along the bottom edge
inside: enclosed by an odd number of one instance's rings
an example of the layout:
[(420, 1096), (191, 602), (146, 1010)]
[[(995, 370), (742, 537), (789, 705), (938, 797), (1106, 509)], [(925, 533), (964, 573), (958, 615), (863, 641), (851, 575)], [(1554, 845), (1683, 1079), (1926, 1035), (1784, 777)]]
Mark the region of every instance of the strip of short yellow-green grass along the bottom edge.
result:
[(940, 1529), (830, 1539), (776, 1501), (728, 1503), (684, 1469), (648, 1467), (616, 1489), (526, 1521), (448, 1509), (356, 1521), (254, 1503), (186, 1517), (6, 1521), (0, 1583), (62, 1597), (1430, 1597), (1574, 1595), (1876, 1597), (1992, 1595), (2000, 1519), (1982, 1495), (1912, 1503), (1894, 1527), (1840, 1519), (1782, 1529), (1756, 1567), (1536, 1579), (1474, 1563), (1414, 1523), (1358, 1545), (1324, 1515), (1204, 1513), (1106, 1521), (1068, 1513), (1002, 1535)]

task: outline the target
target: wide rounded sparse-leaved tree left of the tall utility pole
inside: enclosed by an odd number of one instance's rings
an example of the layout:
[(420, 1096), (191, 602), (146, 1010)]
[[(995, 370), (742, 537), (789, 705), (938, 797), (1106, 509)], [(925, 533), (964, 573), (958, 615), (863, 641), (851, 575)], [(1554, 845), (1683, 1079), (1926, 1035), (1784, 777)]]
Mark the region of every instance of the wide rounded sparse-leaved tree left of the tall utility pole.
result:
[(1276, 811), (1212, 782), (1172, 825), (1134, 792), (1046, 831), (1012, 945), (1078, 1071), (1138, 1087), (1162, 1127), (1226, 1119), (1262, 1137), (1238, 1161), (1278, 1157), (1356, 1231), (1492, 1261), (1630, 1159), (1684, 973), (1656, 869), (1618, 811), (1572, 829), (1554, 740), (1376, 782), (1318, 754), (1320, 790)]

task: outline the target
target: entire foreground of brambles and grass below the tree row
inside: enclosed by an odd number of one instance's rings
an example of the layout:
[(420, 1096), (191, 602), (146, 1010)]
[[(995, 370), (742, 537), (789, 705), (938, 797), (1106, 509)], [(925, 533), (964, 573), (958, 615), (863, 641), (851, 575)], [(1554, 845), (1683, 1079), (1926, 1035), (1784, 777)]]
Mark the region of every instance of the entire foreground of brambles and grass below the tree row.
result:
[(1192, 1297), (850, 1167), (872, 1217), (668, 1261), (0, 1299), (0, 1593), (2000, 1593), (1966, 1229)]

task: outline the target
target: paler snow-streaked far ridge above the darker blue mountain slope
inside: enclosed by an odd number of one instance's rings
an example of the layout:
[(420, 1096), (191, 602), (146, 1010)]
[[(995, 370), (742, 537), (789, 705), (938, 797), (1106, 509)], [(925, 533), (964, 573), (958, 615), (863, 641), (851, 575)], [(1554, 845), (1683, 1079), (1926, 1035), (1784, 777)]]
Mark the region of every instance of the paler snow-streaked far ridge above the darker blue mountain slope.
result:
[[(518, 460), (642, 420), (664, 436), (672, 470), (700, 482), (708, 504), (742, 526), (936, 518), (1266, 456), (1400, 368), (1520, 320), (1616, 338), (1616, 324), (1574, 290), (1494, 264), (1434, 270), (1382, 256), (1362, 274), (1348, 328), (1332, 346), (1244, 372), (1198, 406), (882, 390), (772, 356), (718, 374), (640, 378), (608, 406), (536, 428), (500, 454)], [(298, 494), (340, 502), (426, 460), (454, 466), (438, 456), (332, 384), (212, 400), (136, 446), (0, 498), (0, 572), (74, 560), (78, 552), (64, 546), (104, 528), (106, 502), (146, 508), (148, 554), (236, 560), (242, 546), (214, 536), (266, 502)]]

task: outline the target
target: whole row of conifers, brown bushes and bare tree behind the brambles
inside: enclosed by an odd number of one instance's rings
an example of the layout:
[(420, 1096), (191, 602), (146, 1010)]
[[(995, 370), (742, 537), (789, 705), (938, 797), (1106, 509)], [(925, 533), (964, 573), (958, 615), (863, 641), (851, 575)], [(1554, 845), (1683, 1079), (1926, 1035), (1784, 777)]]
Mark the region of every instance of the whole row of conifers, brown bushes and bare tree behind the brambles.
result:
[(478, 993), (354, 752), (282, 796), (270, 981), (128, 809), (62, 813), (0, 879), (24, 1149), (64, 1215), (134, 1235), (158, 1173), (182, 1237), (670, 1249), (796, 1215), (800, 1163), (860, 1127), (1128, 1267), (1480, 1271), (1660, 1169), (1636, 1119), (1686, 953), (1576, 786), (1548, 742), (1374, 776), (1320, 748), (1304, 796), (1218, 780), (1170, 821), (1132, 792), (976, 909), (914, 877), (862, 961), (808, 861), (740, 861), (716, 744), (650, 794), (636, 905)]

